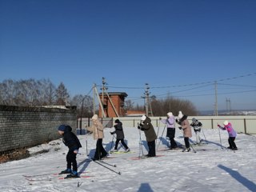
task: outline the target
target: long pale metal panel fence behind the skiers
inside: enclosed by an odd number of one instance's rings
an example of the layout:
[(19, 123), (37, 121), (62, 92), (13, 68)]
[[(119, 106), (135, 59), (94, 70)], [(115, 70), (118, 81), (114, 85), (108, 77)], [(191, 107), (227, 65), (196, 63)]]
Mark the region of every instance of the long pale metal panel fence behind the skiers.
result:
[[(218, 128), (218, 123), (222, 125), (222, 123), (227, 120), (231, 122), (234, 130), (236, 130), (238, 133), (256, 134), (256, 116), (189, 116), (189, 122), (192, 122), (192, 118), (197, 118), (199, 122), (202, 122), (202, 127), (204, 129)], [(112, 127), (115, 119), (117, 118), (99, 118), (104, 127)], [(122, 122), (123, 127), (137, 127), (138, 123), (141, 122), (140, 117), (122, 117), (118, 119)], [(159, 120), (159, 117), (150, 117), (150, 119), (154, 127), (165, 126)], [(91, 118), (82, 118), (82, 121), (81, 119), (78, 119), (78, 130), (85, 129), (85, 124), (86, 126), (90, 126), (91, 122)], [(177, 126), (178, 125), (176, 125), (176, 127)]]

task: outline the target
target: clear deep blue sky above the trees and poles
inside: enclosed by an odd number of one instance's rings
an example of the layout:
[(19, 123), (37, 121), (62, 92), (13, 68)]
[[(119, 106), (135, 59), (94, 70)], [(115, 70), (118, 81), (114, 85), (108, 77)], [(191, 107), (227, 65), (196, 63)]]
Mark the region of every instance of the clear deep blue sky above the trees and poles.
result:
[(0, 0), (0, 28), (0, 82), (49, 78), (74, 96), (104, 77), (135, 103), (149, 83), (214, 110), (217, 81), (218, 109), (256, 109), (254, 0)]

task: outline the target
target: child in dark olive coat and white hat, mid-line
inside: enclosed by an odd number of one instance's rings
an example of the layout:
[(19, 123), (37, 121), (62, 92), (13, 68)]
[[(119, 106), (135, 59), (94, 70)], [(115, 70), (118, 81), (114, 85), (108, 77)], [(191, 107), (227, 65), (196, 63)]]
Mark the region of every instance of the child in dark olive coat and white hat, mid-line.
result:
[(155, 134), (154, 126), (151, 123), (151, 119), (142, 115), (142, 123), (138, 126), (139, 130), (144, 131), (146, 136), (147, 146), (149, 147), (149, 154), (147, 157), (155, 157), (155, 140), (157, 139), (157, 134)]

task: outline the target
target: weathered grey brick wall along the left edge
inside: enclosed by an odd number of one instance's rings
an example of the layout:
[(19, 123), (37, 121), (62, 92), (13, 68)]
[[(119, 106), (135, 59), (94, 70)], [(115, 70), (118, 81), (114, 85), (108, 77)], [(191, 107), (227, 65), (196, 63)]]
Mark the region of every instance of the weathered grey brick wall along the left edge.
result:
[(0, 106), (0, 153), (60, 138), (57, 128), (61, 124), (75, 132), (75, 110)]

